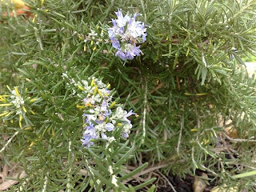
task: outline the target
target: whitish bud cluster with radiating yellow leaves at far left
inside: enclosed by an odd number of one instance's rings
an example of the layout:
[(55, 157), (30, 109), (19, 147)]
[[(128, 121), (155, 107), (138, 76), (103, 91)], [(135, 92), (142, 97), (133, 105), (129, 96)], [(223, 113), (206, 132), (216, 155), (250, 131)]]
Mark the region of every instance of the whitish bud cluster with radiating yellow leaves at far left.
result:
[(16, 86), (14, 90), (11, 90), (9, 86), (7, 86), (7, 88), (10, 90), (11, 94), (0, 95), (0, 102), (2, 102), (0, 106), (3, 109), (3, 113), (0, 114), (0, 117), (7, 118), (10, 114), (18, 114), (19, 126), (22, 127), (22, 119), (26, 116), (26, 113), (34, 114), (34, 111), (30, 109), (29, 103), (36, 102), (38, 98), (30, 98), (26, 97), (26, 95), (22, 96)]

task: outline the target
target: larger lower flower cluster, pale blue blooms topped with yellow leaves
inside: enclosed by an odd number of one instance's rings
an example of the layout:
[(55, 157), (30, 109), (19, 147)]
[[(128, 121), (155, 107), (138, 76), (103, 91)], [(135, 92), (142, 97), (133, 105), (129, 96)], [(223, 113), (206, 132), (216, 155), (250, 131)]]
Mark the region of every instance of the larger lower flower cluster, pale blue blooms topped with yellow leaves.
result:
[(92, 139), (102, 138), (107, 142), (116, 140), (114, 137), (115, 130), (121, 130), (121, 136), (128, 138), (132, 124), (128, 117), (133, 115), (133, 111), (127, 112), (118, 106), (113, 110), (116, 102), (112, 101), (112, 92), (110, 84), (106, 85), (98, 78), (89, 78), (86, 80), (75, 82), (74, 78), (68, 78), (67, 74), (62, 74), (63, 77), (69, 80), (69, 85), (77, 86), (82, 90), (82, 94), (78, 94), (78, 98), (82, 98), (82, 105), (77, 107), (84, 110), (83, 127), (84, 133), (82, 136), (82, 145), (90, 147), (94, 145)]

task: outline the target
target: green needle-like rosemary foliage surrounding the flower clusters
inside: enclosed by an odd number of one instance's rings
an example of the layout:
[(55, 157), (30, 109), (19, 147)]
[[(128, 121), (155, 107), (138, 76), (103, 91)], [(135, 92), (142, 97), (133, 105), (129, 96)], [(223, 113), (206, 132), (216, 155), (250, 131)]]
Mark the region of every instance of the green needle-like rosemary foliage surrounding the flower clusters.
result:
[[(124, 181), (156, 163), (167, 164), (166, 174), (200, 169), (211, 182), (254, 190), (253, 178), (233, 175), (256, 166), (256, 82), (241, 59), (255, 53), (255, 0), (26, 2), (32, 18), (0, 18), (1, 95), (10, 94), (9, 85), (38, 98), (25, 106), (35, 114), (21, 127), (17, 115), (1, 117), (8, 141), (1, 140), (0, 158), (27, 174), (12, 190), (110, 191), (114, 183), (117, 191), (140, 190), (154, 178), (138, 186)], [(84, 42), (91, 29), (106, 33), (117, 8), (141, 13), (149, 26), (143, 55), (132, 61), (115, 57), (110, 44), (94, 50)], [(119, 102), (139, 114), (130, 140), (81, 146), (81, 101), (66, 86), (66, 71), (110, 82)], [(240, 140), (226, 135), (226, 127)], [(136, 169), (128, 173), (127, 165)]]

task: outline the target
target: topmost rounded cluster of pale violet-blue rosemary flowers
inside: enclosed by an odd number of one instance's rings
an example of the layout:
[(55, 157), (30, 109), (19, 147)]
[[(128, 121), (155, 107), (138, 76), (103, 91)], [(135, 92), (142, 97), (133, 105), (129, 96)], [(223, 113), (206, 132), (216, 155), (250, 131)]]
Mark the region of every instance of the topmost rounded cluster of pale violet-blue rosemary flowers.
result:
[(112, 19), (113, 27), (109, 28), (108, 34), (112, 46), (117, 50), (116, 56), (122, 60), (133, 59), (142, 54), (137, 43), (146, 41), (146, 26), (143, 22), (136, 22), (138, 14), (123, 17), (122, 10), (115, 12), (117, 19)]

